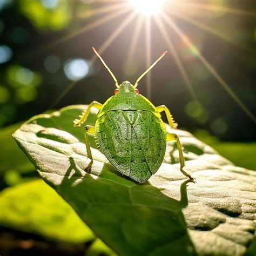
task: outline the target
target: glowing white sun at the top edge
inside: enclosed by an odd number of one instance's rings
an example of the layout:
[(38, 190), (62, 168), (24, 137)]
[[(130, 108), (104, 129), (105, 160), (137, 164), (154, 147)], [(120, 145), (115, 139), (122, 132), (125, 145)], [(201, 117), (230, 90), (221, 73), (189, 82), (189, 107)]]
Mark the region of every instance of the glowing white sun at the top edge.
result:
[(145, 16), (157, 15), (163, 8), (164, 0), (130, 0), (131, 5)]

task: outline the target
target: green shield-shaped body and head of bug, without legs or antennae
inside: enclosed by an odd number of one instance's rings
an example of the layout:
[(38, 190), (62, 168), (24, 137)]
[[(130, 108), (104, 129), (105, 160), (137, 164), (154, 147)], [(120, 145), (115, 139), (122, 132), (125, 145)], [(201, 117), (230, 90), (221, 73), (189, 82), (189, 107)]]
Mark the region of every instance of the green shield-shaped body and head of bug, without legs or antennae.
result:
[(140, 183), (160, 167), (166, 147), (166, 130), (160, 113), (138, 95), (129, 82), (102, 106), (95, 125), (106, 158), (116, 169)]

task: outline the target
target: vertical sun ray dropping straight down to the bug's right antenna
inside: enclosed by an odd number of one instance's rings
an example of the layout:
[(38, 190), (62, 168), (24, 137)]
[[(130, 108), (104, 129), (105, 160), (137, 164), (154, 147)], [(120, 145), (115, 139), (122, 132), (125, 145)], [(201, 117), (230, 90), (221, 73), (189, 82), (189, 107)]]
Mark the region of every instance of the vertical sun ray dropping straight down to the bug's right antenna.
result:
[[(151, 65), (151, 17), (146, 16), (145, 37), (146, 37), (146, 66)], [(152, 73), (149, 72), (146, 77), (146, 96), (151, 100)]]

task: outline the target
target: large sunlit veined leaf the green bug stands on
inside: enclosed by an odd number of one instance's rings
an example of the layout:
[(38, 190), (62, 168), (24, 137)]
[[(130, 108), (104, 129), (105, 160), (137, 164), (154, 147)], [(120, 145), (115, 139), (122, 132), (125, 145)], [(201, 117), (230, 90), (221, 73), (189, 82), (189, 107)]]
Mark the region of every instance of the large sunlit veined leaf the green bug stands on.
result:
[[(255, 172), (235, 167), (190, 133), (176, 130), (184, 147), (189, 183), (179, 171), (174, 143), (147, 183), (122, 176), (83, 143), (72, 120), (87, 106), (36, 116), (14, 133), (41, 177), (119, 255), (239, 255), (253, 239)], [(95, 122), (95, 113), (88, 124)], [(167, 130), (170, 127), (167, 126)], [(95, 147), (95, 145), (93, 145)]]

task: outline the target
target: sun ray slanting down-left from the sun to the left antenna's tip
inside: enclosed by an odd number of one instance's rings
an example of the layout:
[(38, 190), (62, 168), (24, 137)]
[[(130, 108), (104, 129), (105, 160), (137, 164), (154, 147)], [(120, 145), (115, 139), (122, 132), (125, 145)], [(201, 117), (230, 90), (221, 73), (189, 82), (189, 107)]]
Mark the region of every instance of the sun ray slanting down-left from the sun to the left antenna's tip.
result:
[[(102, 54), (114, 41), (114, 39), (126, 28), (127, 25), (129, 25), (134, 19), (134, 17), (137, 15), (136, 11), (132, 11), (131, 14), (129, 14), (122, 23), (120, 23), (117, 28), (110, 34), (110, 36), (106, 39), (106, 41), (99, 47), (99, 52)], [(95, 62), (97, 56), (93, 55), (90, 61), (93, 63)]]

